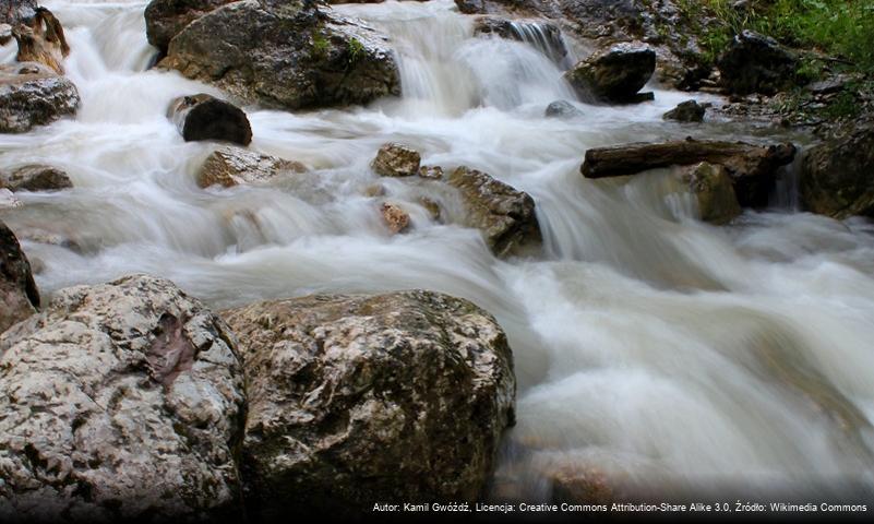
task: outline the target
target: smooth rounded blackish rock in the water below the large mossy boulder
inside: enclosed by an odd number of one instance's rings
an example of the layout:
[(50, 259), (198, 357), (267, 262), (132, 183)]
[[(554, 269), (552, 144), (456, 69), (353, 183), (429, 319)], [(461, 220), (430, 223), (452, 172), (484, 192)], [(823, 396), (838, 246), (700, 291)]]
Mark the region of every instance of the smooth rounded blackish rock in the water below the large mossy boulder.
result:
[(252, 142), (252, 128), (246, 112), (205, 93), (176, 98), (167, 109), (167, 118), (185, 142), (220, 140), (240, 145)]

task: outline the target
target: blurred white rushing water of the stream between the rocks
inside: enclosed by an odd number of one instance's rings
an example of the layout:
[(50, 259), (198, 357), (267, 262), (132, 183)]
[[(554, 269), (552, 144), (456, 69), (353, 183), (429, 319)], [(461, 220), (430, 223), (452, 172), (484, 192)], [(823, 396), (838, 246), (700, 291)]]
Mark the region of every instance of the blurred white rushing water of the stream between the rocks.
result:
[[(215, 144), (183, 142), (165, 111), (176, 96), (220, 93), (147, 70), (146, 2), (43, 3), (67, 28), (65, 68), (83, 104), (74, 120), (0, 135), (0, 168), (50, 164), (75, 188), (17, 193), (23, 205), (0, 217), (22, 238), (44, 300), (135, 272), (216, 309), (435, 289), (492, 312), (514, 350), (518, 424), (495, 497), (543, 499), (543, 479), (567, 468), (680, 492), (853, 481), (871, 496), (874, 227), (789, 205), (715, 227), (659, 174), (579, 174), (592, 146), (758, 131), (666, 123), (661, 114), (689, 94), (661, 90), (654, 103), (575, 103), (579, 119), (547, 119), (550, 102), (575, 98), (535, 47), (474, 37), (448, 0), (345, 5), (392, 36), (403, 96), (297, 114), (248, 107), (251, 148), (312, 171), (272, 188), (202, 190), (194, 174)], [(0, 61), (13, 57), (14, 43), (0, 50)], [(368, 165), (388, 141), (419, 150), (423, 164), (468, 165), (529, 192), (543, 255), (501, 261), (477, 230), (433, 222), (422, 194), (451, 215), (460, 202), (432, 182), (379, 180)], [(375, 183), (410, 211), (409, 234), (382, 224), (366, 195)]]

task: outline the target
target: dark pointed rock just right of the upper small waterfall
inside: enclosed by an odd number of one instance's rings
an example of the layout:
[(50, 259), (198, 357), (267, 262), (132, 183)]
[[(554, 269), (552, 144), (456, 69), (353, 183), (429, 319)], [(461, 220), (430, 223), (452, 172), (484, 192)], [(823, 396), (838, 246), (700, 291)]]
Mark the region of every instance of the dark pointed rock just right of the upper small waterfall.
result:
[(656, 51), (619, 44), (580, 61), (565, 73), (565, 79), (582, 96), (621, 104), (637, 100), (637, 92), (655, 70)]

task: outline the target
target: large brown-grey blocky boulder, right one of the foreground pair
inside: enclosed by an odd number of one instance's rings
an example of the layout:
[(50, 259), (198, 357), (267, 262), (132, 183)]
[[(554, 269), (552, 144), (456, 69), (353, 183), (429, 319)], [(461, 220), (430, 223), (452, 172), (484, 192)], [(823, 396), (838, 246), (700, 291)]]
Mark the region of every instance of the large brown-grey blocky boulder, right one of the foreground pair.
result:
[(364, 515), (376, 501), (483, 495), (515, 393), (489, 313), (412, 290), (261, 302), (225, 318), (248, 379), (250, 515)]

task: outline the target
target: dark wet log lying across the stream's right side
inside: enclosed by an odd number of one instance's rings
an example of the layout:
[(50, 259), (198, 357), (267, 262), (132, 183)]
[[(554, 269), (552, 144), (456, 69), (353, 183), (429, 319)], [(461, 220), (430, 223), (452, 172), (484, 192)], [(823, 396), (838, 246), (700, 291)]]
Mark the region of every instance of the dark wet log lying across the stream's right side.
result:
[(744, 207), (767, 205), (777, 170), (795, 156), (792, 144), (753, 145), (710, 140), (634, 143), (595, 147), (586, 152), (580, 171), (586, 178), (635, 175), (668, 166), (707, 162), (728, 169), (738, 201)]

